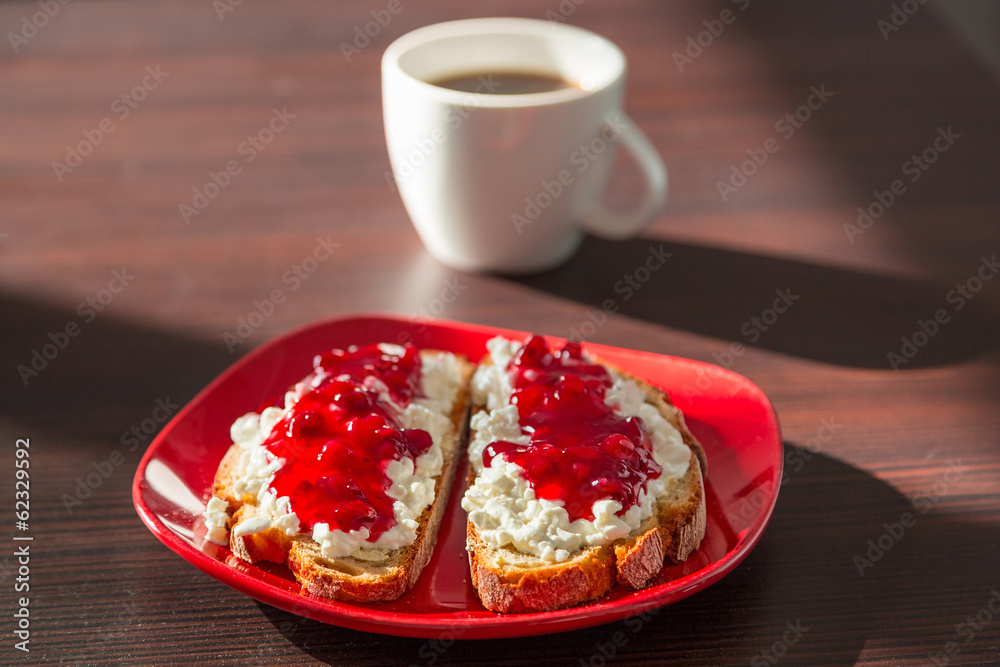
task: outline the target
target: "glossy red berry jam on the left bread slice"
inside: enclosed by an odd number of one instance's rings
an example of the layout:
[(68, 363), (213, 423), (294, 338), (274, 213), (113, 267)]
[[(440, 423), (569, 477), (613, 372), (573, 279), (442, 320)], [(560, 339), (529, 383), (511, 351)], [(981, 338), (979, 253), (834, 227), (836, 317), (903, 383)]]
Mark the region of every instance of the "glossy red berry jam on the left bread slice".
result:
[[(430, 449), (426, 431), (401, 429), (395, 409), (383, 402), (368, 377), (381, 380), (403, 406), (420, 395), (420, 356), (407, 346), (402, 355), (376, 345), (332, 350), (313, 360), (310, 390), (285, 413), (264, 446), (285, 464), (271, 488), (288, 496), (300, 530), (317, 523), (344, 532), (367, 528), (370, 541), (396, 525), (389, 461)], [(365, 386), (365, 385), (368, 386)]]

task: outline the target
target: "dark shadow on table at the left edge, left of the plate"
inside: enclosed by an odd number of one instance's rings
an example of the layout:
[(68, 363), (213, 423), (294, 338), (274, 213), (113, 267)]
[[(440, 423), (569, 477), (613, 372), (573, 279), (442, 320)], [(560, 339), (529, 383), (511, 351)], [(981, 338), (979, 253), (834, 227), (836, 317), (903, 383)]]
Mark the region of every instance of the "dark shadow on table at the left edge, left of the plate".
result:
[[(150, 417), (157, 399), (183, 404), (245, 352), (230, 354), (221, 338), (198, 340), (16, 294), (0, 292), (0, 312), (6, 377), (0, 415), (74, 433), (93, 416), (85, 426), (95, 442), (117, 443), (123, 431)], [(65, 423), (67, 414), (72, 424)], [(148, 444), (150, 434), (143, 435)]]

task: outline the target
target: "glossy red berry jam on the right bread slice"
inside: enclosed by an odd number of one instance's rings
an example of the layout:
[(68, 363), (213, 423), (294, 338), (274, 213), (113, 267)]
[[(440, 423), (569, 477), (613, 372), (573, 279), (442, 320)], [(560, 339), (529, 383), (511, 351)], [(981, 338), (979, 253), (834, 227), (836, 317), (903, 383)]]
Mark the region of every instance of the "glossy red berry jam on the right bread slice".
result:
[(594, 502), (602, 499), (621, 503), (618, 514), (624, 514), (646, 480), (660, 476), (642, 419), (623, 419), (604, 403), (611, 376), (583, 358), (579, 343), (553, 354), (545, 339), (532, 336), (507, 374), (514, 389), (510, 402), (531, 441), (488, 445), (487, 467), (503, 454), (524, 470), (537, 497), (562, 500), (570, 521), (593, 521)]

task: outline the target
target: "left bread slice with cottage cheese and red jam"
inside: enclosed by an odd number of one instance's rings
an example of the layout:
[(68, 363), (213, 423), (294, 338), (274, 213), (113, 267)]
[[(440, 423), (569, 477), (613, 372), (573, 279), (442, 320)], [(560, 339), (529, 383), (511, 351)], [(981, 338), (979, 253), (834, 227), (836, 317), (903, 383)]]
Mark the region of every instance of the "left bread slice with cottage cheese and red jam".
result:
[(332, 350), (313, 366), (233, 424), (206, 537), (248, 563), (287, 562), (303, 593), (396, 599), (437, 539), (473, 366), (391, 344)]

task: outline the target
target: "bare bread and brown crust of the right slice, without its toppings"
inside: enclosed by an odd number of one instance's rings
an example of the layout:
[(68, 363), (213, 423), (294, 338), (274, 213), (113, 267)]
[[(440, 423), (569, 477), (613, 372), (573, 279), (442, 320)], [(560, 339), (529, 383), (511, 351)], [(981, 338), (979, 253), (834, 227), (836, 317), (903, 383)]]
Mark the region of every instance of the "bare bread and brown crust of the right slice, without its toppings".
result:
[[(701, 544), (706, 528), (707, 469), (701, 445), (663, 391), (624, 371), (611, 369), (635, 382), (645, 392), (646, 402), (680, 432), (691, 450), (687, 472), (672, 480), (667, 492), (657, 499), (652, 515), (630, 535), (603, 546), (580, 549), (563, 562), (547, 562), (510, 545), (489, 545), (469, 521), (467, 549), (472, 583), (487, 609), (508, 613), (570, 607), (601, 597), (615, 581), (643, 588), (659, 574), (665, 559), (682, 562)], [(474, 410), (482, 407), (475, 406)], [(474, 479), (470, 467), (469, 483)]]

